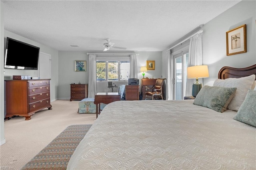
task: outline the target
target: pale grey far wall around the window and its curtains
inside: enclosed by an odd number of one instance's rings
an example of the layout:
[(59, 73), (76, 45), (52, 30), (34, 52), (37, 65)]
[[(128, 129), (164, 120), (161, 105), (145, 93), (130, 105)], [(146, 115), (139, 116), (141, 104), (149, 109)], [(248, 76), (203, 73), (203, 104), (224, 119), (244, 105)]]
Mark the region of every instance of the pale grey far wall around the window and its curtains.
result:
[[(59, 51), (59, 85), (58, 85), (58, 99), (70, 99), (70, 83), (78, 83), (79, 81), (83, 84), (88, 83), (89, 77), (89, 56), (86, 53), (103, 53), (102, 51)], [(162, 76), (162, 63), (161, 63), (161, 52), (142, 52), (142, 51), (118, 51), (116, 53), (138, 53), (138, 78), (142, 79), (142, 73), (140, 73), (140, 67), (146, 66), (147, 60), (155, 60), (155, 70), (146, 72), (145, 76), (152, 78), (160, 78)], [(98, 55), (106, 56), (106, 55)], [(110, 56), (110, 55), (108, 55)], [(113, 55), (112, 55), (113, 56)], [(111, 56), (111, 57), (112, 57)], [(114, 55), (117, 56), (117, 55)], [(129, 56), (129, 55), (122, 55)], [(74, 71), (75, 60), (86, 60), (86, 71)], [(127, 81), (120, 81), (116, 83), (127, 84)], [(97, 92), (108, 92), (107, 82), (99, 82), (96, 85)], [(115, 89), (116, 90), (116, 89)]]

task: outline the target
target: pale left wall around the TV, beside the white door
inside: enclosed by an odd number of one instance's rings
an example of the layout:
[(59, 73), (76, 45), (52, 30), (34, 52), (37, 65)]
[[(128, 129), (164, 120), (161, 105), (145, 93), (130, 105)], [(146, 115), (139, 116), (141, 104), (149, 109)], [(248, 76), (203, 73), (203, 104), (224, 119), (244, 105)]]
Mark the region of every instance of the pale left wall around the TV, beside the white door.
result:
[[(57, 99), (57, 85), (58, 85), (58, 51), (47, 47), (46, 45), (42, 45), (40, 43), (34, 42), (12, 32), (4, 30), (4, 44), (6, 45), (6, 37), (13, 38), (15, 40), (19, 40), (21, 42), (25, 42), (31, 45), (35, 45), (40, 47), (40, 52), (47, 53), (51, 55), (51, 101), (55, 101)], [(5, 47), (4, 45), (4, 47)], [(4, 57), (3, 57), (4, 58)], [(20, 70), (20, 69), (4, 69), (4, 79), (10, 80), (13, 75), (30, 75), (31, 77), (38, 77), (38, 70)]]

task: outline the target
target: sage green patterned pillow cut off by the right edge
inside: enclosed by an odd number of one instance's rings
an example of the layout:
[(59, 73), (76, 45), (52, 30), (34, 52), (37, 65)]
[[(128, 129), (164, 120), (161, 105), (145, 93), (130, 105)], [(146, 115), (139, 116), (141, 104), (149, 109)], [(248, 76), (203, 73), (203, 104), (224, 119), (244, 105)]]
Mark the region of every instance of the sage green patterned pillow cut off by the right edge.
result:
[(234, 119), (256, 127), (256, 90), (248, 90)]

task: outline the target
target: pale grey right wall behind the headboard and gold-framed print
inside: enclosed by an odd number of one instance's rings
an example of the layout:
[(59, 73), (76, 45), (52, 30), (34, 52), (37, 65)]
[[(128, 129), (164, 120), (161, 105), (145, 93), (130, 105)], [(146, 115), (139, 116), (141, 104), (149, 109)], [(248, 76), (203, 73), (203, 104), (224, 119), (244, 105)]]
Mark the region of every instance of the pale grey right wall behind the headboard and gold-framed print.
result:
[[(209, 77), (203, 79), (204, 85), (212, 84), (218, 78), (218, 71), (224, 66), (248, 67), (256, 64), (256, 1), (243, 0), (204, 24), (203, 64), (208, 65)], [(247, 52), (226, 55), (226, 32), (246, 24)], [(165, 55), (162, 51), (162, 74), (165, 76)]]

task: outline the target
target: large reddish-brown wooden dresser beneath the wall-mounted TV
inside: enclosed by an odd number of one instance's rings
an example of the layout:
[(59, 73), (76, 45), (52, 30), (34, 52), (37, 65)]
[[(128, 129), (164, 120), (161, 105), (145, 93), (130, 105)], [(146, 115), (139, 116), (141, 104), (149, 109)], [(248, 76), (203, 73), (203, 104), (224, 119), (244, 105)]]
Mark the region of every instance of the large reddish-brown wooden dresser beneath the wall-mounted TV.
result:
[(6, 119), (18, 115), (30, 120), (31, 115), (50, 104), (50, 79), (6, 80)]

